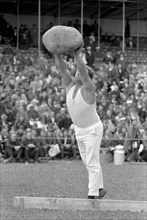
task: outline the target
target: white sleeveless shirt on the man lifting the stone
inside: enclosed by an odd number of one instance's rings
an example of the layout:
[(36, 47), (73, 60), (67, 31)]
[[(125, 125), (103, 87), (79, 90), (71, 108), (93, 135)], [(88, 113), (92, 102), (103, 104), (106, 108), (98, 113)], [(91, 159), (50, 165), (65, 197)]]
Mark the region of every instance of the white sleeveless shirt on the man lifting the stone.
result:
[(100, 121), (96, 111), (96, 103), (90, 105), (86, 103), (81, 94), (81, 88), (78, 90), (76, 97), (73, 99), (75, 85), (70, 88), (66, 97), (66, 104), (70, 117), (79, 128), (86, 128)]

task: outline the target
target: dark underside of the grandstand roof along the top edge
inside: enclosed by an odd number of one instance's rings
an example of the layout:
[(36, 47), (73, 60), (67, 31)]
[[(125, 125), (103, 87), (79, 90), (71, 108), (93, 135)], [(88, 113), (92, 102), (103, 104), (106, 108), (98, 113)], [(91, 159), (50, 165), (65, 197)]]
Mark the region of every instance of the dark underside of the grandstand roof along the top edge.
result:
[[(58, 17), (60, 6), (60, 16), (81, 16), (81, 0), (40, 1), (41, 15)], [(37, 15), (38, 0), (0, 0), (0, 13), (17, 14), (18, 2), (20, 14)], [(83, 0), (84, 19), (96, 19), (99, 6), (101, 18), (122, 19), (123, 2), (125, 2), (126, 19), (136, 20), (139, 16), (140, 20), (147, 20), (147, 0)]]

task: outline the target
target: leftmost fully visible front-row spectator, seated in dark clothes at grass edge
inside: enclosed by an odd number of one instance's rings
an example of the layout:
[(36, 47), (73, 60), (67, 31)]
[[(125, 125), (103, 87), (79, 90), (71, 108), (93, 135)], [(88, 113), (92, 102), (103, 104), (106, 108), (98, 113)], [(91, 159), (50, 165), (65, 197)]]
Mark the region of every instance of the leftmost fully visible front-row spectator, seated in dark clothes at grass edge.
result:
[(20, 140), (17, 138), (17, 134), (15, 132), (12, 132), (10, 137), (8, 138), (6, 142), (6, 149), (5, 149), (5, 155), (4, 155), (4, 162), (10, 163), (13, 161), (22, 162), (22, 153), (23, 148), (21, 147)]

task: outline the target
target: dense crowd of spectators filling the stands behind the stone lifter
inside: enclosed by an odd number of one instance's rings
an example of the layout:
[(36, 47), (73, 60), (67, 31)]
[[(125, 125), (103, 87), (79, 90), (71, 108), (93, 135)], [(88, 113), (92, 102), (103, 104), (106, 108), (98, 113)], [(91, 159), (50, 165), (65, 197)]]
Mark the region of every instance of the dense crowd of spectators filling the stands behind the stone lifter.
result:
[[(80, 27), (78, 20), (68, 25)], [(37, 46), (37, 27), (28, 30), (20, 26), (23, 51), (14, 50), (15, 28), (3, 16), (0, 27), (1, 161), (80, 159), (54, 57), (45, 48), (40, 57), (28, 51), (30, 46)], [(84, 29), (81, 57), (95, 71), (97, 112), (104, 125), (102, 149), (113, 154), (114, 147), (123, 145), (126, 161), (147, 161), (147, 63), (128, 62), (119, 37), (101, 35), (104, 44), (118, 47), (102, 51), (94, 30), (98, 30), (94, 25)], [(127, 39), (132, 40), (130, 36)], [(126, 47), (135, 47), (135, 41), (129, 44), (128, 40)], [(64, 59), (74, 76), (73, 56), (64, 55)]]

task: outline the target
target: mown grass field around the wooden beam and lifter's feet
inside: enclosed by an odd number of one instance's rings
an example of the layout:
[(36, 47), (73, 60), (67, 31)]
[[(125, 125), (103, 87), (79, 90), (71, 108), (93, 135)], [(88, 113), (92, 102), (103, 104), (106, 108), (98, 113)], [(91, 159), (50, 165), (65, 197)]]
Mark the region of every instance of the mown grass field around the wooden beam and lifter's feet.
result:
[[(147, 166), (116, 166), (101, 155), (105, 199), (147, 200)], [(86, 198), (88, 175), (82, 161), (49, 161), (42, 164), (0, 164), (0, 220), (145, 220), (144, 213), (56, 210), (19, 210), (16, 196)]]

